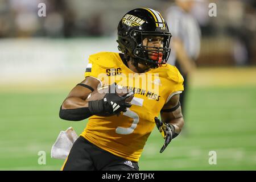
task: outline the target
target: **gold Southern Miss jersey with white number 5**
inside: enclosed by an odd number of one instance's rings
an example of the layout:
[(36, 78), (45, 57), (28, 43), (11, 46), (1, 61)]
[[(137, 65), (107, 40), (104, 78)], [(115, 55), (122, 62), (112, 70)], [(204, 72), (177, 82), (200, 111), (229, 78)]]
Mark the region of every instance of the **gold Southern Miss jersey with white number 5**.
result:
[(163, 105), (183, 90), (183, 77), (176, 67), (135, 73), (123, 63), (119, 53), (100, 52), (89, 57), (85, 77), (94, 77), (106, 86), (116, 82), (135, 92), (125, 113), (110, 117), (93, 115), (81, 136), (96, 146), (127, 160), (138, 162), (148, 136), (155, 127)]

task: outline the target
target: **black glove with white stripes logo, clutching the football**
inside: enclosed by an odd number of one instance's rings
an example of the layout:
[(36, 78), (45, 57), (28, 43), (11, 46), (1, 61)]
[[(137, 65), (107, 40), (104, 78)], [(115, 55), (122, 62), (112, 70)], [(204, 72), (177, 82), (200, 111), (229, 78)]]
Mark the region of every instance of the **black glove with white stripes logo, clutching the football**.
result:
[(89, 101), (89, 110), (93, 115), (114, 115), (121, 111), (125, 112), (127, 107), (131, 107), (129, 102), (125, 102), (126, 98), (131, 97), (134, 92), (129, 92), (125, 96), (118, 96), (115, 90), (116, 84), (109, 87), (107, 93), (102, 100)]

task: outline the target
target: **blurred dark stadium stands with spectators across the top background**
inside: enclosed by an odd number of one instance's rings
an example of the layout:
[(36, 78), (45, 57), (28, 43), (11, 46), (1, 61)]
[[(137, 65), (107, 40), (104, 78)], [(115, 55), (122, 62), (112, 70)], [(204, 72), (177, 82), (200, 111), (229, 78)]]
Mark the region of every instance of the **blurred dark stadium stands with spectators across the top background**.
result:
[[(38, 16), (38, 4), (46, 4), (46, 17)], [(151, 7), (162, 14), (173, 1), (148, 0), (1, 0), (0, 38), (116, 37), (126, 11)], [(217, 4), (217, 17), (208, 16), (209, 3)], [(199, 21), (203, 39), (197, 64), (252, 65), (256, 63), (256, 3), (197, 0), (192, 13)], [(170, 29), (171, 29), (171, 25)], [(2, 42), (3, 40), (0, 39)], [(86, 43), (86, 40), (84, 40)], [(11, 45), (10, 45), (11, 46)], [(101, 49), (98, 47), (98, 49)], [(2, 60), (0, 61), (2, 64)]]

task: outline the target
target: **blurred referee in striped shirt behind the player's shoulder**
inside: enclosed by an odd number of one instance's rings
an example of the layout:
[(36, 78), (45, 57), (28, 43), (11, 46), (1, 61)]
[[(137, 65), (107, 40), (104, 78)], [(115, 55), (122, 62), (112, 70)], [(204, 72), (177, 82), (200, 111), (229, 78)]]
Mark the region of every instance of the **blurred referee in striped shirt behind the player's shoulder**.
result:
[(172, 50), (168, 63), (175, 65), (184, 77), (184, 91), (180, 94), (183, 113), (188, 77), (195, 69), (195, 60), (200, 52), (200, 27), (190, 14), (194, 3), (194, 0), (175, 0), (175, 5), (166, 11), (166, 21), (172, 34)]

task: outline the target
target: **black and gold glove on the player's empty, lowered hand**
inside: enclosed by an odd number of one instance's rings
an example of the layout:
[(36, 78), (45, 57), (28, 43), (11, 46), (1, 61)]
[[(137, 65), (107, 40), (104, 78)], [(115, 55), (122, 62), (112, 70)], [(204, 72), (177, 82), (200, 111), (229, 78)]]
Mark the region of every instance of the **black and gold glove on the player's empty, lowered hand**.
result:
[(164, 149), (166, 149), (168, 144), (171, 142), (172, 138), (175, 138), (177, 134), (175, 133), (174, 125), (170, 123), (164, 123), (160, 121), (158, 117), (155, 117), (155, 124), (156, 124), (156, 127), (158, 127), (158, 130), (160, 131), (162, 136), (164, 137), (164, 144), (160, 150), (160, 153), (162, 153)]

